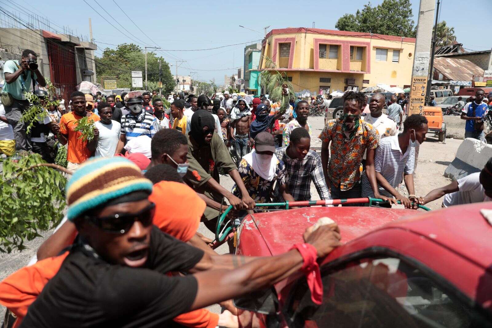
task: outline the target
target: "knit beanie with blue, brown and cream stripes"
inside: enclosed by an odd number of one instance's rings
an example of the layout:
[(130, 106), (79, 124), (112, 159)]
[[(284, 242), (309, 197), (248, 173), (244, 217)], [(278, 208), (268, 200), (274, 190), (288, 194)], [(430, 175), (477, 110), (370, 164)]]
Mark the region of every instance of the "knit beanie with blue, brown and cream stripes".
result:
[(152, 193), (152, 182), (130, 160), (95, 157), (72, 175), (66, 186), (67, 216), (74, 220), (87, 210), (134, 191)]

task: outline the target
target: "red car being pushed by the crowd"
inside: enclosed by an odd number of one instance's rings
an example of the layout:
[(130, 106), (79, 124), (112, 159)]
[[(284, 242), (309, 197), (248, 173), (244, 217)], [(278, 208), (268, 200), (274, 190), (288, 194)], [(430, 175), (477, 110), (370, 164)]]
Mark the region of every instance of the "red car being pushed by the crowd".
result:
[[(328, 216), (344, 244), (320, 266), (323, 302), (306, 278), (235, 299), (240, 327), (492, 327), (492, 202), (431, 212), (300, 208), (246, 216), (236, 254), (272, 256)], [(244, 310), (244, 311), (243, 311)]]

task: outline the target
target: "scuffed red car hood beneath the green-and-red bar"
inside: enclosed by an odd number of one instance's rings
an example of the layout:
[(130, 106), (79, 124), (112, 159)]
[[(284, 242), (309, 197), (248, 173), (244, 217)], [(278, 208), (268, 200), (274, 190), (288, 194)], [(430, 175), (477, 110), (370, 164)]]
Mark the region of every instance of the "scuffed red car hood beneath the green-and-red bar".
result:
[[(343, 243), (365, 235), (388, 222), (402, 216), (416, 214), (412, 209), (380, 209), (370, 207), (306, 207), (247, 215), (240, 228), (240, 243), (246, 235), (257, 234), (255, 246), (241, 245), (240, 254), (269, 256), (288, 251), (293, 244), (303, 242), (307, 227), (315, 224), (320, 217), (328, 216), (337, 222)], [(247, 236), (248, 241), (252, 236)], [(261, 247), (263, 239), (268, 250)], [(247, 251), (246, 248), (250, 248)], [(253, 248), (253, 249), (251, 249)], [(269, 252), (270, 254), (268, 254)]]

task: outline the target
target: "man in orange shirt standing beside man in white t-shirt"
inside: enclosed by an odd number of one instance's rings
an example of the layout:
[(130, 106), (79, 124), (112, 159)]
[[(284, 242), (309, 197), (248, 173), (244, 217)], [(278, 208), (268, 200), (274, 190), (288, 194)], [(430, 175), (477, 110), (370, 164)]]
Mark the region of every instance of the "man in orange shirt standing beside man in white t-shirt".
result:
[[(67, 113), (60, 119), (60, 133), (58, 140), (62, 145), (68, 143), (67, 169), (71, 172), (77, 170), (78, 166), (92, 156), (92, 151), (87, 147), (87, 141), (79, 139), (82, 132), (74, 131), (77, 127), (77, 120), (89, 117), (94, 122), (100, 120), (93, 113), (86, 111), (86, 96), (83, 92), (74, 91), (70, 95), (72, 100), (72, 112)], [(99, 135), (99, 130), (94, 129), (94, 137)], [(94, 138), (92, 142), (97, 141)]]

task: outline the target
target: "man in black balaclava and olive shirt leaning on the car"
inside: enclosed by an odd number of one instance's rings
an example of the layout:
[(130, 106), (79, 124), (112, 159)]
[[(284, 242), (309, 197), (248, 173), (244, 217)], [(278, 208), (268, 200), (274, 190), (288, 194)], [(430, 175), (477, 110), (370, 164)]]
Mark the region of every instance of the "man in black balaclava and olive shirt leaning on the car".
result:
[[(254, 200), (247, 193), (246, 187), (231, 158), (227, 147), (215, 131), (215, 119), (206, 110), (194, 112), (191, 130), (188, 133), (188, 172), (184, 179), (196, 192), (202, 193), (220, 204), (227, 198), (235, 209), (253, 209)], [(241, 191), (241, 199), (220, 185), (218, 167), (229, 173)], [(222, 211), (225, 208), (222, 208)], [(210, 231), (215, 231), (215, 223), (220, 206), (207, 207), (202, 220)]]

